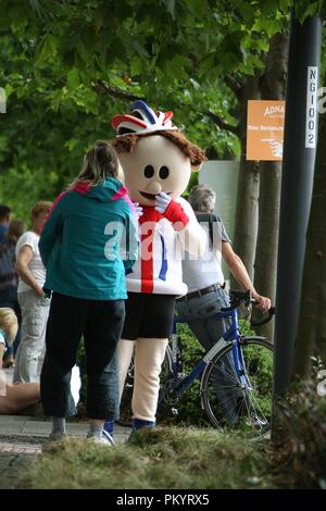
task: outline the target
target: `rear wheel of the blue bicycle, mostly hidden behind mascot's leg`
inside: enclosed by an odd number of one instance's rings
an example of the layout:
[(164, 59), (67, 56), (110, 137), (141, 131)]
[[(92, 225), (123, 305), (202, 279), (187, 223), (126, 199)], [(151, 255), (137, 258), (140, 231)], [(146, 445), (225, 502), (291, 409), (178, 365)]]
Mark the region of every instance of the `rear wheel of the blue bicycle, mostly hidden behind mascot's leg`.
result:
[[(131, 399), (133, 399), (133, 392), (134, 392), (134, 372), (135, 372), (135, 361), (134, 361), (134, 354), (133, 354), (131, 362), (130, 362), (129, 369), (127, 371), (127, 376), (125, 379), (124, 391), (121, 398), (120, 417), (115, 421), (116, 424), (120, 424), (121, 426), (124, 426), (124, 427), (133, 426)], [(171, 373), (172, 373), (172, 353), (171, 353), (170, 346), (167, 346), (165, 358), (162, 364), (162, 371), (160, 374), (159, 403), (162, 399), (162, 390), (165, 388)]]

